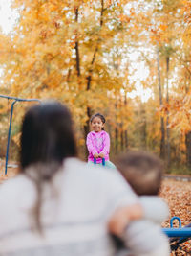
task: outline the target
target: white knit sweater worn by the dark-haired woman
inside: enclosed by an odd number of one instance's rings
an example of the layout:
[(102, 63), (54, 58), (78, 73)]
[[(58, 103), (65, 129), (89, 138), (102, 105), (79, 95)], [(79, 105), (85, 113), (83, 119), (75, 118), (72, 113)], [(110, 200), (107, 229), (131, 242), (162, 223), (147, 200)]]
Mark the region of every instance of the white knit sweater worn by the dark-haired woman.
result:
[(26, 175), (1, 185), (0, 255), (115, 255), (107, 221), (117, 206), (138, 202), (116, 172), (76, 158), (65, 160), (53, 182), (44, 186), (43, 236), (32, 231), (35, 200), (35, 186)]

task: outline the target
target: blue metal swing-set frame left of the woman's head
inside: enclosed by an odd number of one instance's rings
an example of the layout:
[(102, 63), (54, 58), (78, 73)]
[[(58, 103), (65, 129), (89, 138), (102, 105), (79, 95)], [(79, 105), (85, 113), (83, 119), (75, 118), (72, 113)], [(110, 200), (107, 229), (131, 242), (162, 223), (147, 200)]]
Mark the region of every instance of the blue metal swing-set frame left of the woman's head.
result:
[(7, 151), (6, 151), (5, 175), (7, 175), (9, 149), (10, 149), (10, 137), (11, 137), (11, 121), (12, 121), (14, 105), (16, 102), (39, 102), (40, 103), (40, 100), (38, 100), (38, 99), (21, 99), (21, 98), (17, 98), (17, 97), (6, 96), (6, 95), (0, 95), (0, 98), (13, 100), (13, 102), (11, 104), (10, 126), (9, 126), (9, 131), (8, 131), (8, 144), (7, 144)]

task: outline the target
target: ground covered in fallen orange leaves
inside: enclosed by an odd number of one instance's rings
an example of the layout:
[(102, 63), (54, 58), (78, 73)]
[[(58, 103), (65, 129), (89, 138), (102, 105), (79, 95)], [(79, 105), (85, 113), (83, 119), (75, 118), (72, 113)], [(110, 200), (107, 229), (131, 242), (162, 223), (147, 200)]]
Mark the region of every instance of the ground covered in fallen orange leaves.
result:
[[(4, 170), (2, 169), (0, 183), (13, 177), (16, 173), (17, 170), (15, 168), (9, 168), (8, 175), (5, 176)], [(169, 205), (170, 218), (173, 216), (180, 217), (182, 226), (191, 223), (191, 182), (164, 179), (161, 186), (160, 196), (164, 198)], [(163, 227), (170, 227), (170, 218), (162, 223)], [(178, 221), (175, 221), (174, 226), (179, 226)], [(182, 249), (178, 249), (176, 253), (173, 252), (171, 255), (191, 256), (191, 240), (184, 243)]]

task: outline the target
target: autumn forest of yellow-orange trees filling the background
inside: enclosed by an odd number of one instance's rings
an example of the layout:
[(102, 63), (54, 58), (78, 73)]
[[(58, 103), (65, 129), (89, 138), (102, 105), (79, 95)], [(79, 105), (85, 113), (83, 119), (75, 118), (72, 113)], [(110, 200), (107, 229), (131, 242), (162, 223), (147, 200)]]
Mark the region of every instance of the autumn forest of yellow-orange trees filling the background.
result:
[[(69, 105), (83, 159), (90, 116), (101, 112), (112, 159), (153, 151), (167, 173), (191, 174), (190, 0), (12, 0), (12, 8), (15, 25), (0, 32), (0, 94)], [(135, 60), (147, 73), (141, 81)], [(14, 106), (11, 159), (27, 107)], [(1, 99), (1, 157), (10, 110)]]

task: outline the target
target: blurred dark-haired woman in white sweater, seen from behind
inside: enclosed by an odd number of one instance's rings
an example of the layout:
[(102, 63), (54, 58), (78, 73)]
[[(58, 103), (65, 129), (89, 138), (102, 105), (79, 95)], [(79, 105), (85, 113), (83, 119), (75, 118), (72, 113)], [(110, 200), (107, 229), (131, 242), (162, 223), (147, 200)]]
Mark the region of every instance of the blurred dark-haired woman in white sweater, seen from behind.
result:
[(25, 114), (20, 174), (0, 187), (0, 255), (114, 255), (109, 229), (120, 233), (142, 216), (117, 172), (76, 158), (72, 123), (54, 101)]

